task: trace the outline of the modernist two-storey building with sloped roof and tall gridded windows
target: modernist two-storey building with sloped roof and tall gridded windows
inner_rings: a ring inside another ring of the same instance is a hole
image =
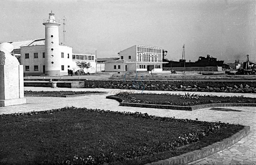
[[[134,45],[118,53],[119,60],[105,62],[106,72],[163,71],[163,49],[159,47]]]

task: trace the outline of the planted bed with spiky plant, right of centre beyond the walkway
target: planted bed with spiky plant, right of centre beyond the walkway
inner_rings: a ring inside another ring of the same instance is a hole
[[[214,96],[214,95],[193,95],[185,93],[186,95],[175,94],[154,94],[142,93],[129,94],[119,93],[118,96],[124,100],[125,103],[142,103],[142,104],[158,104],[158,105],[178,105],[178,106],[193,106],[201,104],[212,103],[256,103],[256,98],[243,96]]]

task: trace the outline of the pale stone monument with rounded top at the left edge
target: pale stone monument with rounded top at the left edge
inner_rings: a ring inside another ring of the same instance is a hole
[[[13,45],[0,44],[0,106],[25,104],[23,65],[10,52]]]

